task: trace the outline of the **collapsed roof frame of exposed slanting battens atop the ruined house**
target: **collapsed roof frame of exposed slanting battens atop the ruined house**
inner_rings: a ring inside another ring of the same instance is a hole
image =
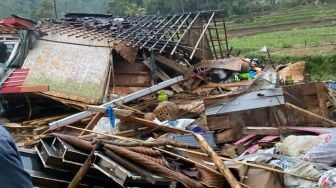
[[[92,41],[108,39],[109,44],[121,40],[132,47],[170,55],[178,51],[188,54],[189,59],[207,50],[212,57],[223,58],[228,48],[221,11],[135,17],[67,14],[61,19],[45,20],[39,30]],[[204,39],[209,44],[204,46]]]

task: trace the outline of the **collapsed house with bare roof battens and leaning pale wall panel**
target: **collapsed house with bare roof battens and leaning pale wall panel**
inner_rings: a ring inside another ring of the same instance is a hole
[[[42,37],[23,65],[31,69],[24,85],[48,85],[48,95],[101,104],[109,94],[130,94],[187,74],[199,59],[224,57],[226,42],[218,34],[224,29],[209,26],[219,24],[217,17],[220,12],[168,17],[67,14],[43,20],[37,26]],[[178,86],[174,90],[182,91]]]

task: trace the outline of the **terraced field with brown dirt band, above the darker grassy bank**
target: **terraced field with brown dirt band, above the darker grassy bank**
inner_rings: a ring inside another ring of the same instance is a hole
[[[276,55],[336,54],[336,3],[231,18],[226,25],[229,46],[243,53],[267,46]]]

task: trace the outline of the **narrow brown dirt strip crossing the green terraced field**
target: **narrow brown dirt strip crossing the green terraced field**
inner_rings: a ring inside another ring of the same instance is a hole
[[[262,26],[256,28],[245,28],[245,29],[233,29],[227,28],[228,37],[243,37],[255,35],[258,33],[266,33],[266,32],[274,32],[274,31],[283,31],[290,30],[293,28],[305,28],[305,27],[318,27],[318,26],[328,26],[335,25],[336,19],[326,19],[326,20],[318,20],[318,21],[305,21],[305,22],[297,22],[297,23],[287,23],[287,24],[277,24],[271,26]]]

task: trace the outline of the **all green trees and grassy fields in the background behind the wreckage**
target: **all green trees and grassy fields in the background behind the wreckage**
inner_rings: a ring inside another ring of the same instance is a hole
[[[54,0],[0,0],[0,18],[11,14],[31,19],[54,17]],[[114,15],[173,14],[198,10],[224,9],[228,30],[250,29],[272,24],[286,24],[306,20],[334,19],[336,0],[55,0],[61,17],[67,12],[112,13]],[[229,44],[242,54],[267,57],[257,52],[266,45],[271,49],[273,62],[287,63],[304,60],[313,79],[336,80],[336,26],[293,29],[230,39]],[[302,46],[331,45],[331,51],[290,54]],[[277,50],[280,49],[280,52]],[[286,51],[281,52],[285,49]]]

